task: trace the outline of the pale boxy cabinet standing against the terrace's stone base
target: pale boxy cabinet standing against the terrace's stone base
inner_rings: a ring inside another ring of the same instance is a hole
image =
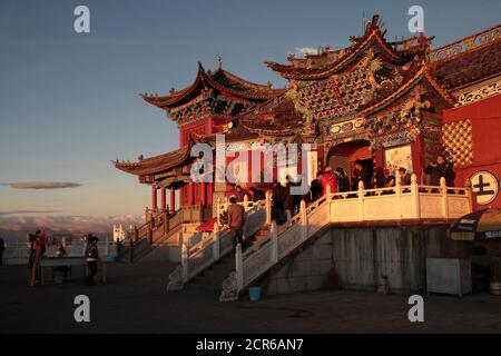
[[[426,258],[428,293],[471,294],[470,258]]]

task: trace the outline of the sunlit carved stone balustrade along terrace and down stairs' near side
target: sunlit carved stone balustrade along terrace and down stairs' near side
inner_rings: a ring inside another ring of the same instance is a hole
[[[223,281],[219,300],[237,300],[249,286],[259,281],[273,268],[291,259],[299,248],[306,248],[323,229],[346,222],[374,224],[379,221],[448,221],[471,212],[471,189],[418,184],[412,175],[411,185],[402,185],[397,176],[394,187],[326,194],[306,206],[301,202],[297,215],[283,226],[272,222],[268,234],[257,233],[261,241],[235,253],[235,270]],[[269,221],[269,219],[268,219]]]

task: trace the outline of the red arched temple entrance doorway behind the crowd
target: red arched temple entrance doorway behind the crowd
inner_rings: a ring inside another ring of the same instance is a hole
[[[327,165],[333,169],[338,167],[343,168],[350,177],[350,187],[353,188],[351,177],[357,159],[367,168],[370,178],[372,179],[374,167],[371,144],[367,140],[354,140],[331,147],[327,155]]]

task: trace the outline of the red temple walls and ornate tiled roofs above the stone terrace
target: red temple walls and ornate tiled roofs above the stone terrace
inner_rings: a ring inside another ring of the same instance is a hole
[[[179,148],[115,161],[116,168],[151,187],[151,211],[166,211],[169,189],[170,211],[198,206],[205,220],[214,216],[216,199],[234,190],[229,182],[190,179],[193,145],[207,142],[215,150],[216,134],[225,135],[226,150],[249,158],[265,142],[311,144],[307,167],[295,167],[308,182],[326,166],[351,171],[360,159],[370,171],[404,167],[425,184],[425,167],[445,152],[455,185],[471,180],[474,208],[501,207],[501,24],[433,49],[433,38],[423,33],[386,40],[380,22],[374,16],[347,48],[266,62],[287,80],[285,89],[242,79],[223,69],[220,59],[214,71],[199,63],[189,87],[143,96],[177,123]],[[264,187],[249,182],[249,165],[234,166],[237,181]],[[273,165],[276,179],[291,172]]]

